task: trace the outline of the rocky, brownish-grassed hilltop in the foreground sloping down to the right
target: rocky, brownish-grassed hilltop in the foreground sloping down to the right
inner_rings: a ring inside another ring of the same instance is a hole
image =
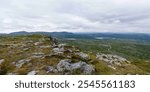
[[[0,74],[147,74],[118,55],[87,53],[43,35],[1,37]]]

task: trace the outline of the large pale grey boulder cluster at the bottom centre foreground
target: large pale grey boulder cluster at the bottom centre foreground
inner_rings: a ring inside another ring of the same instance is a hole
[[[47,72],[58,74],[94,74],[95,68],[85,62],[72,63],[70,59],[61,60],[56,67],[48,66]]]

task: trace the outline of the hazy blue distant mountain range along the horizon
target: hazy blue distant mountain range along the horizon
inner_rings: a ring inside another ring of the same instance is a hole
[[[127,39],[127,40],[140,40],[150,41],[150,34],[144,33],[71,33],[71,32],[13,32],[7,35],[19,36],[30,34],[43,34],[56,38],[75,38],[75,39],[95,39],[101,37],[104,39]],[[6,35],[6,34],[0,34]]]

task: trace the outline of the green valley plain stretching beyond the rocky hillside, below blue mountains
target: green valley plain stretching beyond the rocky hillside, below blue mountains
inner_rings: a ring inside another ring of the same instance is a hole
[[[150,42],[125,39],[76,39],[60,40],[85,52],[117,54],[132,61],[141,69],[150,72]]]

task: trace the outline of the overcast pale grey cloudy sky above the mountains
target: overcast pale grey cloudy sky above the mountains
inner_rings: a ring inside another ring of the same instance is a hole
[[[150,33],[150,0],[0,0],[0,33]]]

